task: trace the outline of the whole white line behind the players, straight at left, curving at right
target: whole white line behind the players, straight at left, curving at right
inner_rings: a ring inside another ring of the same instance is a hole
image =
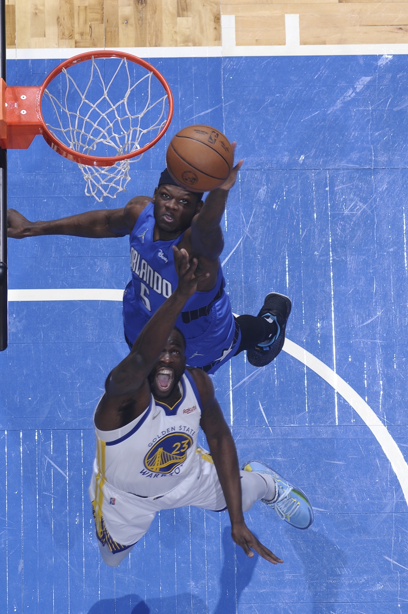
[[[9,290],[9,301],[122,301],[123,290],[73,288],[73,289],[48,289],[48,290]],[[304,348],[286,338],[283,350],[306,365],[317,375],[320,375],[330,386],[334,388],[358,413],[363,422],[369,427],[375,439],[379,442],[388,461],[391,463],[402,492],[408,504],[408,465],[398,445],[382,423],[380,418],[363,398],[337,373],[321,362],[316,356],[310,354]]]

